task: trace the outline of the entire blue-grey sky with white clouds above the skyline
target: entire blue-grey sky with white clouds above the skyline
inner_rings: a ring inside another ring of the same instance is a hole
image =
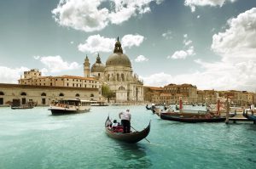
[[[145,86],[256,92],[256,0],[0,0],[0,83],[83,76],[117,37]]]

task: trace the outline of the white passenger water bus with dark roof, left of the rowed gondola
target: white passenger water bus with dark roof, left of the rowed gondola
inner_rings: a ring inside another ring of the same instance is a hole
[[[81,99],[61,99],[49,106],[52,115],[67,115],[90,111],[90,101]]]

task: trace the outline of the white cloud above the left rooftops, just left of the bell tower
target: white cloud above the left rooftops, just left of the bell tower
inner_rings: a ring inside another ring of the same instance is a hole
[[[77,62],[67,63],[61,56],[41,56],[40,61],[46,66],[51,73],[60,72],[62,70],[79,69],[80,65]],[[44,72],[48,72],[44,69]]]

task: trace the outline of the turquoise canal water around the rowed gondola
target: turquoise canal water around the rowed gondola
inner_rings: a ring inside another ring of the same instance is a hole
[[[131,110],[131,126],[151,120],[148,140],[125,144],[104,132],[107,116]],[[92,107],[77,115],[47,107],[0,109],[0,168],[255,168],[256,125],[163,121],[145,106]]]

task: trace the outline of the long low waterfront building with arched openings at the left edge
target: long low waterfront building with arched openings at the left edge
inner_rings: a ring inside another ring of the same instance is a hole
[[[56,87],[0,83],[0,106],[9,106],[13,99],[21,104],[33,101],[38,105],[49,105],[52,100],[86,99],[98,100],[101,97],[97,88]]]

